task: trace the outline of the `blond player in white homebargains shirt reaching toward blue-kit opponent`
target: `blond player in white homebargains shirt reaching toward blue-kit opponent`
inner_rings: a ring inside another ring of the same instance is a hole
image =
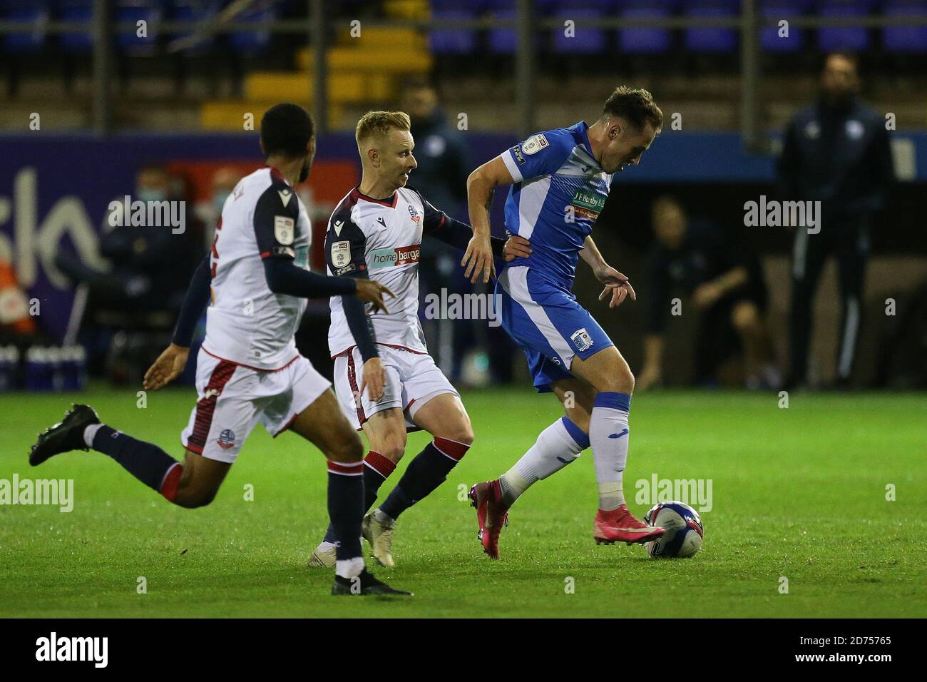
[[[394,566],[392,533],[405,509],[435,490],[473,444],[474,434],[460,395],[425,347],[418,319],[418,263],[422,236],[441,239],[465,251],[473,231],[406,187],[416,167],[409,116],[401,111],[370,111],[357,124],[361,184],[341,199],[328,223],[325,254],[328,274],[371,278],[394,292],[390,310],[371,310],[363,302],[333,297],[329,350],[335,360],[338,400],[352,425],[370,442],[364,457],[365,508],[396,469],[405,452],[407,430],[435,436],[410,463],[383,504],[363,519],[363,535],[384,566]],[[527,257],[529,242],[493,239],[496,256]],[[372,333],[365,333],[369,328]],[[360,387],[368,372],[383,371],[387,381],[379,399]],[[310,566],[332,566],[334,528],[312,552]]]

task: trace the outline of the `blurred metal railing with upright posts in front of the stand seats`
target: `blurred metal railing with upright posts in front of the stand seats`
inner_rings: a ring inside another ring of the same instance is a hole
[[[50,34],[91,32],[93,35],[93,129],[98,135],[106,135],[111,129],[112,109],[109,98],[111,77],[112,38],[118,32],[134,32],[133,22],[110,20],[109,0],[94,0],[94,19],[91,22],[46,21],[42,30]],[[252,5],[239,2],[235,8],[240,13]],[[569,11],[568,9],[565,11]],[[365,27],[412,28],[421,31],[457,29],[489,30],[509,28],[515,30],[514,51],[515,108],[517,110],[518,132],[527,135],[535,130],[535,92],[537,54],[532,45],[532,36],[540,30],[564,28],[565,16],[540,17],[534,12],[534,0],[515,0],[514,17],[479,17],[474,19],[364,19]],[[741,40],[741,133],[746,148],[761,150],[764,141],[759,125],[759,102],[757,100],[760,72],[759,30],[766,26],[778,26],[781,19],[787,19],[790,27],[801,29],[820,28],[886,28],[893,26],[927,26],[927,15],[868,15],[862,17],[824,17],[806,15],[785,15],[781,18],[762,17],[756,0],[742,0],[741,13],[736,17],[582,17],[576,19],[577,29],[634,29],[660,28],[668,30],[698,28],[728,28],[740,32]],[[271,33],[304,33],[313,50],[311,69],[312,113],[320,131],[327,122],[327,64],[326,38],[328,29],[333,28],[324,0],[307,0],[306,19],[275,19],[273,21],[240,21],[234,18],[209,19],[205,21],[162,20],[157,24],[160,33],[193,32],[195,36],[210,36],[229,32],[260,31]],[[14,32],[28,32],[36,28],[34,22],[0,20],[0,35]],[[170,46],[169,46],[170,47]]]

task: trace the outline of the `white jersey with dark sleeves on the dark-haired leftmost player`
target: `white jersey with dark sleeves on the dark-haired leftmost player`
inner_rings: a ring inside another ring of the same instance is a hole
[[[311,225],[283,175],[262,168],[242,178],[222,206],[212,242],[212,284],[204,350],[256,369],[279,369],[298,356],[294,335],[306,299],[273,293],[264,258],[309,267]]]

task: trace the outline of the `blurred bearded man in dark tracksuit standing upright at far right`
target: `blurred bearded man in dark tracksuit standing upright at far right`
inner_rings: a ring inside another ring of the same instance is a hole
[[[819,232],[795,230],[787,388],[806,382],[811,310],[827,258],[837,259],[842,320],[837,349],[838,388],[846,387],[857,350],[869,226],[894,180],[883,117],[858,97],[857,58],[824,60],[819,101],[796,113],[785,131],[779,176],[785,199],[819,201]]]

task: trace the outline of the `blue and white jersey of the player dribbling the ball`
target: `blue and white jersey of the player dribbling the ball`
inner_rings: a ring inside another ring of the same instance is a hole
[[[502,154],[514,185],[505,201],[505,228],[531,241],[526,265],[567,291],[579,251],[608,198],[612,176],[592,156],[589,126],[578,122],[531,135]]]

